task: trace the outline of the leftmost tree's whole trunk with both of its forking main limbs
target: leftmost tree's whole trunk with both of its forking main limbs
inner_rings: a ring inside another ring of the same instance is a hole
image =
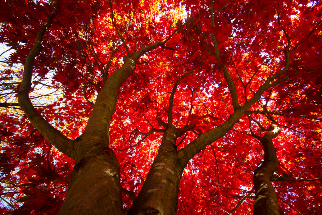
[[[19,105],[46,140],[75,159],[67,196],[59,214],[123,214],[119,164],[109,148],[109,123],[118,91],[133,73],[137,60],[164,43],[156,42],[131,54],[123,66],[110,75],[98,94],[85,132],[72,141],[52,127],[35,110],[29,98],[33,61],[42,49],[43,36],[53,17],[54,13],[39,31],[36,44],[25,61],[23,80],[17,94]]]

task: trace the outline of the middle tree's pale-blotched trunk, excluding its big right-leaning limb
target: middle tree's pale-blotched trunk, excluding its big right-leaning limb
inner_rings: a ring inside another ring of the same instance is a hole
[[[179,184],[184,170],[178,159],[176,138],[176,129],[168,128],[147,179],[128,215],[176,214]]]

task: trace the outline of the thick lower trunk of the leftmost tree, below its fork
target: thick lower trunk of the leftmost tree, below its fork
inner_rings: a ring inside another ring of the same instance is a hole
[[[96,144],[75,161],[58,214],[123,214],[119,164],[109,147]]]

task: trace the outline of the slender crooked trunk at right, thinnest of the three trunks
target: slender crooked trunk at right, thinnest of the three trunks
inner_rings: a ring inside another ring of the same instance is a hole
[[[267,132],[263,138],[257,137],[264,150],[264,161],[262,165],[254,171],[253,182],[256,194],[254,215],[279,214],[277,195],[270,181],[279,164],[272,140],[279,134],[280,128],[276,125],[273,125],[273,127],[274,130]]]

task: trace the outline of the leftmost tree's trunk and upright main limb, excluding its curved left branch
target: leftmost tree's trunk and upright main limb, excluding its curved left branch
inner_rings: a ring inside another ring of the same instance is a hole
[[[123,214],[119,163],[109,148],[109,123],[118,91],[137,59],[160,42],[137,51],[116,70],[98,94],[84,133],[74,141],[75,167],[58,214]]]

